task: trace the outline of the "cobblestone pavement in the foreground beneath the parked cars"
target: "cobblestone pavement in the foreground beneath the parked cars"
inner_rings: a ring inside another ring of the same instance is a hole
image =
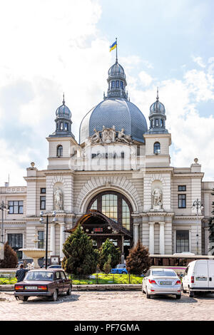
[[[214,320],[214,294],[189,298],[146,299],[141,292],[73,292],[57,301],[36,297],[16,301],[13,294],[0,293],[0,320]]]

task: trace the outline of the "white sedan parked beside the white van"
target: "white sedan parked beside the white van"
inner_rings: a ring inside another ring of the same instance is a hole
[[[149,269],[143,278],[142,292],[147,298],[154,294],[174,294],[176,299],[180,299],[180,278],[173,269]]]

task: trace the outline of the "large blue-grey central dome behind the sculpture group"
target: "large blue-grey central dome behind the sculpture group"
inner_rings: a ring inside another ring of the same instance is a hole
[[[125,98],[107,98],[92,108],[83,118],[80,126],[80,143],[94,134],[93,129],[101,131],[103,125],[116,131],[124,128],[126,135],[133,140],[144,142],[143,134],[147,131],[146,118],[136,105]]]

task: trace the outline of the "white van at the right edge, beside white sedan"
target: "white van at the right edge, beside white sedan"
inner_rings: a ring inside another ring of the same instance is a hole
[[[183,274],[182,290],[189,297],[194,297],[195,292],[214,293],[214,259],[190,262]]]

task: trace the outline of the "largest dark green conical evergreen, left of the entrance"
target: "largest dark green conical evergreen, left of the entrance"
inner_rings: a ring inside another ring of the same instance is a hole
[[[78,225],[63,244],[62,267],[68,274],[86,275],[96,272],[98,250],[93,249],[93,242]]]

